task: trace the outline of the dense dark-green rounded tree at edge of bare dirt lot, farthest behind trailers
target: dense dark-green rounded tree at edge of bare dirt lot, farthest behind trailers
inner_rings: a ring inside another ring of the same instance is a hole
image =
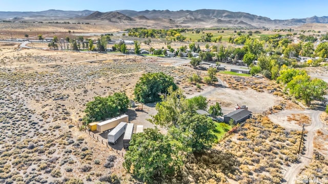
[[[177,89],[173,78],[162,72],[143,74],[134,88],[135,99],[141,103],[159,101],[160,95],[167,94],[170,86]]]

